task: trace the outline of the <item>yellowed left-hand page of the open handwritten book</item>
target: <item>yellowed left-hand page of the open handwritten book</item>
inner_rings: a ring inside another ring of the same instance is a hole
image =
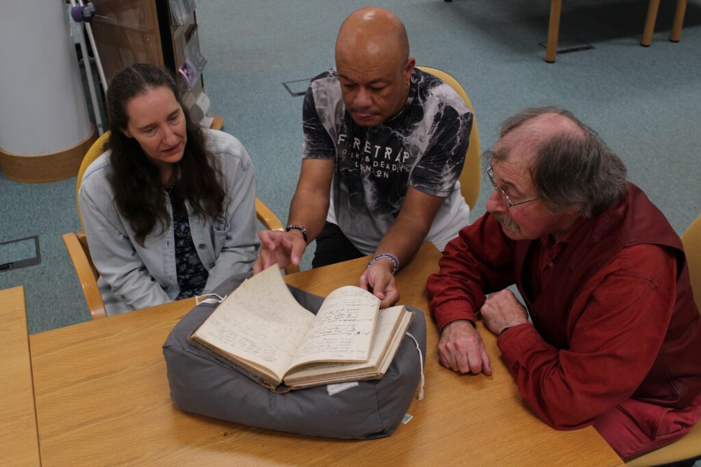
[[[273,265],[233,291],[194,335],[282,379],[313,320]]]

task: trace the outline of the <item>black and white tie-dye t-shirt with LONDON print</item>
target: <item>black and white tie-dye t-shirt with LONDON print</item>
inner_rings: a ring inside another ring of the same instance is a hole
[[[439,78],[414,69],[404,109],[382,125],[362,127],[346,111],[331,69],[311,81],[303,115],[302,156],[336,162],[327,221],[357,249],[374,253],[408,186],[446,198],[426,236],[441,251],[468,225],[470,209],[457,181],[472,113]]]

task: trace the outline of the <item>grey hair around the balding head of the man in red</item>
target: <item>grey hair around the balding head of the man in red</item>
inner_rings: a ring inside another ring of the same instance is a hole
[[[611,207],[627,190],[623,162],[590,127],[571,112],[554,106],[533,107],[508,118],[499,132],[501,138],[526,121],[545,113],[569,118],[581,130],[561,132],[536,147],[531,164],[531,179],[550,211],[575,207],[585,217]],[[503,160],[506,154],[487,151],[485,158]],[[486,164],[485,164],[486,165]]]

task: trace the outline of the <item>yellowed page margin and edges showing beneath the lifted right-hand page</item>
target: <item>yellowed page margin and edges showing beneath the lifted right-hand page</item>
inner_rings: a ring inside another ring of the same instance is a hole
[[[314,363],[312,365],[305,365],[285,375],[285,382],[287,383],[290,379],[301,379],[339,371],[346,372],[359,370],[361,368],[372,368],[378,365],[386,354],[390,340],[392,340],[392,336],[397,328],[397,324],[400,322],[400,318],[404,316],[404,313],[403,306],[384,308],[378,312],[375,335],[372,339],[372,350],[370,351],[367,362]]]

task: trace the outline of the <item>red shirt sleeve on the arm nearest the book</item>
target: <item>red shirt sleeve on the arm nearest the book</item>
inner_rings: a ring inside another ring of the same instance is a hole
[[[440,272],[432,274],[426,283],[431,316],[439,330],[458,319],[474,323],[485,293],[514,284],[514,246],[489,213],[463,228],[447,244]]]

